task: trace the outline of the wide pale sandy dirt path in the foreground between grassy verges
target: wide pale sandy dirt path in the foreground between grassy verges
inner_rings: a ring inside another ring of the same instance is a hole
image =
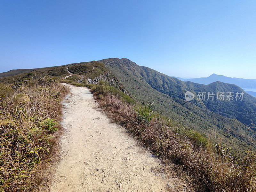
[[[63,158],[56,167],[51,192],[158,192],[172,188],[163,173],[151,171],[160,161],[123,127],[111,123],[88,89],[65,85],[71,88],[64,103],[67,133],[61,138]]]

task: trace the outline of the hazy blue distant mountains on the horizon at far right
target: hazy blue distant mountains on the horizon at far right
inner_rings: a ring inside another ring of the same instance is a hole
[[[175,76],[172,76],[175,77]],[[250,95],[256,97],[256,79],[242,79],[242,78],[236,78],[236,77],[227,77],[223,75],[217,75],[213,73],[209,77],[200,77],[200,78],[180,78],[180,77],[175,77],[180,79],[181,81],[191,81],[194,83],[199,83],[199,84],[210,84],[215,81],[221,81],[224,83],[229,83],[229,84],[235,84],[238,87],[241,87],[244,89],[247,93]]]

